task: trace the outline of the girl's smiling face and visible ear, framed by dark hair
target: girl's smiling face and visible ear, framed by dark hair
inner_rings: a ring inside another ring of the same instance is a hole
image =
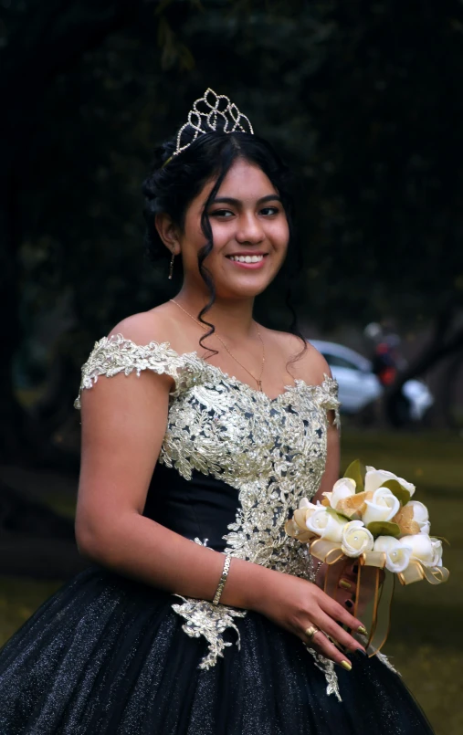
[[[178,235],[185,285],[207,294],[197,257],[205,245],[201,215],[214,182],[206,184]],[[257,165],[237,159],[207,210],[214,247],[205,258],[221,299],[253,298],[268,287],[285,259],[289,226],[279,194]]]

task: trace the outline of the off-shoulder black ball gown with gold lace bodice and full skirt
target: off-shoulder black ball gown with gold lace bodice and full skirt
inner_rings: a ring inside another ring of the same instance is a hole
[[[168,342],[95,344],[102,376],[174,378],[143,515],[233,557],[312,580],[285,521],[320,487],[337,384],[274,399]],[[122,385],[123,389],[123,385]],[[79,398],[76,401],[79,408]],[[344,671],[253,611],[166,593],[92,563],[0,650],[0,735],[430,735],[384,656]]]

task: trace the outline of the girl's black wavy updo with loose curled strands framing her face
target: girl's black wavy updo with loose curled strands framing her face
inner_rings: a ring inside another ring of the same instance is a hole
[[[187,132],[184,131],[183,142]],[[178,155],[173,155],[175,147],[176,136],[164,142],[155,151],[151,172],[143,182],[142,192],[144,194],[144,217],[146,221],[145,248],[148,257],[153,262],[159,262],[161,259],[165,260],[169,257],[169,251],[163,245],[163,241],[157,232],[155,216],[160,213],[170,215],[174,225],[182,230],[188,206],[202,191],[205,184],[214,181],[214,186],[208,196],[201,217],[205,245],[198,252],[198,269],[209,290],[209,300],[197,316],[199,321],[209,327],[209,330],[199,341],[201,346],[205,347],[203,340],[215,331],[214,324],[204,319],[205,313],[211,308],[216,299],[214,279],[205,266],[205,258],[214,247],[213,233],[207,212],[226,177],[226,173],[237,159],[244,159],[249,163],[256,164],[268,176],[269,181],[281,198],[289,225],[289,247],[288,256],[280,270],[280,274],[285,280],[285,302],[291,313],[289,331],[303,340],[298,329],[296,313],[291,303],[291,281],[300,272],[301,256],[293,223],[292,176],[289,168],[281,161],[278,153],[273,150],[267,141],[246,132],[226,133],[216,131],[199,135],[185,151]],[[305,349],[307,345],[306,341],[303,341]],[[299,355],[294,359],[297,359],[297,357]]]

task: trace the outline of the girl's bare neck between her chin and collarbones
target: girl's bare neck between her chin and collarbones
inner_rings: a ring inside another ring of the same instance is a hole
[[[181,289],[174,300],[195,319],[207,303],[203,294],[187,289]],[[254,299],[216,299],[203,319],[214,324],[222,336],[239,339],[249,336],[256,329],[253,327],[253,307]]]

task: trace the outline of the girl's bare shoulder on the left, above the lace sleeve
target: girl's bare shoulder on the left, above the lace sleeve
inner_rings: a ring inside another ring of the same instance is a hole
[[[172,310],[168,304],[161,304],[154,309],[141,311],[121,320],[108,336],[121,334],[126,340],[144,345],[152,341],[170,342],[173,339],[173,331],[175,325]]]

